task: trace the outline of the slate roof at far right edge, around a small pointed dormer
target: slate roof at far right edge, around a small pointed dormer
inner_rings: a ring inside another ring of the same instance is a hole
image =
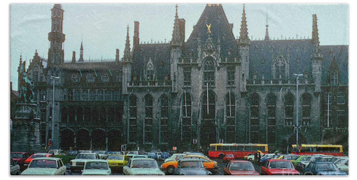
[[[338,68],[340,69],[341,83],[348,83],[348,45],[321,45],[322,60],[322,77],[321,82],[325,83],[328,69],[331,66],[332,58],[335,56]]]

